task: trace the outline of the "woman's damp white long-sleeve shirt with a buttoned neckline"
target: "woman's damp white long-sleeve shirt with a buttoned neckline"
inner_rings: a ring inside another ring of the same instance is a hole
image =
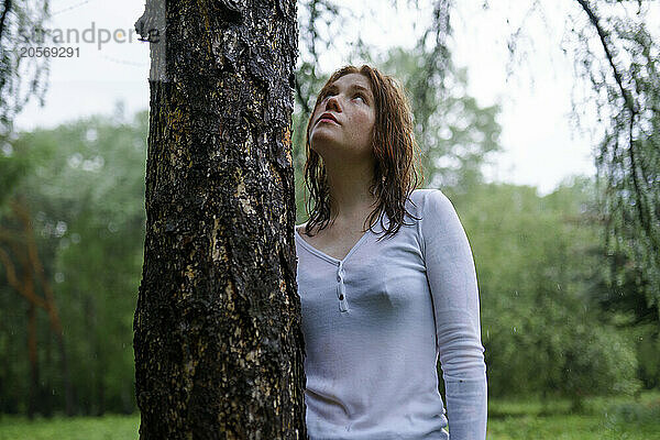
[[[486,367],[468,238],[438,189],[414,190],[406,209],[422,219],[406,216],[413,226],[378,242],[376,220],[343,260],[296,227],[311,440],[447,440],[448,419],[451,440],[485,439]]]

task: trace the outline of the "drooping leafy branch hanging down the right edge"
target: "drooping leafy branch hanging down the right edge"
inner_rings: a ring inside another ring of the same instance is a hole
[[[597,157],[598,174],[605,172],[607,176],[607,243],[612,235],[617,252],[629,254],[641,274],[640,290],[650,305],[660,304],[660,48],[646,29],[645,2],[637,2],[638,20],[608,16],[587,0],[576,2],[606,58],[600,78],[593,72],[587,75],[597,94],[606,92],[607,101],[598,106],[610,113]],[[581,37],[584,42],[588,38]],[[594,57],[586,50],[582,62],[587,70],[593,65],[587,58]],[[613,267],[613,276],[617,271],[620,267]]]

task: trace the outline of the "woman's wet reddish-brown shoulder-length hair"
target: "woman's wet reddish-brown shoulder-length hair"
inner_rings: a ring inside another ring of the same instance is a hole
[[[327,228],[331,213],[330,187],[326,166],[322,157],[311,148],[309,140],[314,113],[328,88],[337,79],[349,74],[361,74],[366,77],[375,101],[375,123],[372,139],[375,166],[370,191],[376,197],[377,202],[376,208],[365,220],[365,224],[369,224],[371,230],[371,224],[384,211],[389,219],[389,226],[385,230],[381,218],[381,226],[385,230],[384,237],[394,235],[402,224],[405,224],[405,215],[417,219],[406,211],[405,202],[409,194],[424,182],[421,157],[413,131],[410,101],[404,87],[395,78],[366,65],[362,67],[344,66],[336,70],[317,96],[307,122],[305,138],[307,162],[304,174],[305,186],[309,189],[310,198],[306,198],[305,202],[309,216],[305,233],[312,237],[314,234],[310,232],[315,226],[319,226],[319,231]]]

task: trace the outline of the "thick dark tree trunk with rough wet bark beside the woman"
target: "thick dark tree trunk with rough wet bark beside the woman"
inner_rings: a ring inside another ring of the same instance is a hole
[[[135,25],[152,48],[141,439],[307,437],[295,20],[293,0],[148,0]]]

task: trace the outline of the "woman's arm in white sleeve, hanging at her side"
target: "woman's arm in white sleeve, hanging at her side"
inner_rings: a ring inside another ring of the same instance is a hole
[[[420,229],[450,438],[483,440],[487,418],[486,365],[472,250],[453,205],[438,189],[426,194]]]

